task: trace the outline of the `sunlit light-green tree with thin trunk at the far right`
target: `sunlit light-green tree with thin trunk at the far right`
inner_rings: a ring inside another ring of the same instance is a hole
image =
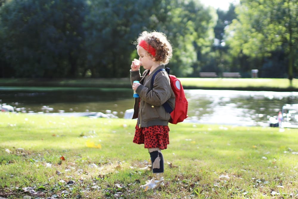
[[[242,0],[236,13],[237,19],[226,31],[234,55],[243,53],[264,62],[273,52],[284,51],[292,84],[298,47],[297,0]]]

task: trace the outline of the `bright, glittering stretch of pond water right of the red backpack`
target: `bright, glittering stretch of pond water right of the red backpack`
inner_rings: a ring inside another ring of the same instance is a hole
[[[187,90],[190,122],[267,125],[284,104],[298,102],[298,92]]]

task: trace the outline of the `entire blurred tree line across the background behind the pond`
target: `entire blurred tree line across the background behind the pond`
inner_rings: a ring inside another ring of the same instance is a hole
[[[128,77],[142,31],[164,32],[179,77],[240,72],[295,78],[297,0],[1,0],[0,77]]]

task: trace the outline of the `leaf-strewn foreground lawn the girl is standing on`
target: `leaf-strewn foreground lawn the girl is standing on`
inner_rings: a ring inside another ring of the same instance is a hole
[[[132,143],[135,122],[1,112],[0,197],[23,198],[26,187],[44,198],[298,196],[298,129],[170,125],[166,186],[143,192],[150,157]]]

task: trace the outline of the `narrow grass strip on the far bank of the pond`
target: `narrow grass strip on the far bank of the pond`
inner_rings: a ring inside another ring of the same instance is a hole
[[[298,79],[293,79],[292,85],[286,78],[179,78],[185,89],[237,89],[237,90],[273,90],[297,91]],[[130,88],[129,78],[81,78],[81,79],[21,79],[0,78],[1,90],[31,90],[49,89],[46,87],[95,87],[95,88]],[[39,88],[38,88],[39,87]],[[54,88],[51,88],[54,89]],[[71,88],[69,88],[71,89]]]

